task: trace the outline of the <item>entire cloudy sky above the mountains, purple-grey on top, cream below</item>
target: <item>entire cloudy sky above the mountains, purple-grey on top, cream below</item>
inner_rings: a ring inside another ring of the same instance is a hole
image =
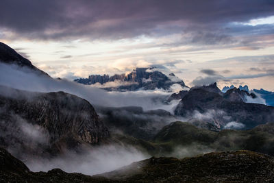
[[[158,66],[274,90],[274,1],[1,0],[0,41],[53,77]]]

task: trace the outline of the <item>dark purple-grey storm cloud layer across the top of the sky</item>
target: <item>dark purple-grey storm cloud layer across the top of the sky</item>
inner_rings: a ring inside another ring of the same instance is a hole
[[[214,44],[231,39],[227,34],[212,31],[229,22],[271,16],[273,9],[273,1],[261,0],[2,0],[0,29],[39,39],[73,36],[119,39],[199,29],[206,32],[193,36],[192,42],[206,40],[207,44]]]

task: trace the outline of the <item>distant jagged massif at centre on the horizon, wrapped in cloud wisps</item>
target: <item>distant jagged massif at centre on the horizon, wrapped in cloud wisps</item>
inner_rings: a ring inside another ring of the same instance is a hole
[[[136,68],[131,73],[125,75],[90,75],[88,78],[79,78],[75,82],[81,84],[101,84],[105,90],[134,91],[154,90],[163,88],[168,90],[173,84],[179,84],[187,87],[182,80],[179,80],[173,73],[164,75],[160,71],[154,71],[155,68]],[[111,86],[113,82],[120,82],[116,86]]]

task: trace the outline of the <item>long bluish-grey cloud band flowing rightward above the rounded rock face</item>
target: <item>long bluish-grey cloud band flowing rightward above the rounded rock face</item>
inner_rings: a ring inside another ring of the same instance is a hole
[[[68,80],[53,80],[38,76],[27,68],[0,64],[0,85],[29,91],[64,91],[88,100],[92,105],[121,107],[141,106],[144,110],[164,109],[173,112],[177,103],[163,104],[173,91],[138,90],[135,92],[107,92],[97,87],[85,86]],[[178,101],[177,101],[178,102]]]

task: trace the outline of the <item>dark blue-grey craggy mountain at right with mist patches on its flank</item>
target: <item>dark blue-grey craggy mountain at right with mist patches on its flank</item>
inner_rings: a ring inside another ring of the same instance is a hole
[[[207,119],[220,129],[226,125],[237,125],[242,129],[250,129],[259,124],[273,122],[273,107],[258,103],[245,103],[235,100],[234,97],[227,97],[229,93],[233,93],[234,89],[231,90],[232,92],[228,90],[227,94],[221,96],[203,88],[190,89],[179,102],[175,114],[181,117],[199,114],[199,118]]]

